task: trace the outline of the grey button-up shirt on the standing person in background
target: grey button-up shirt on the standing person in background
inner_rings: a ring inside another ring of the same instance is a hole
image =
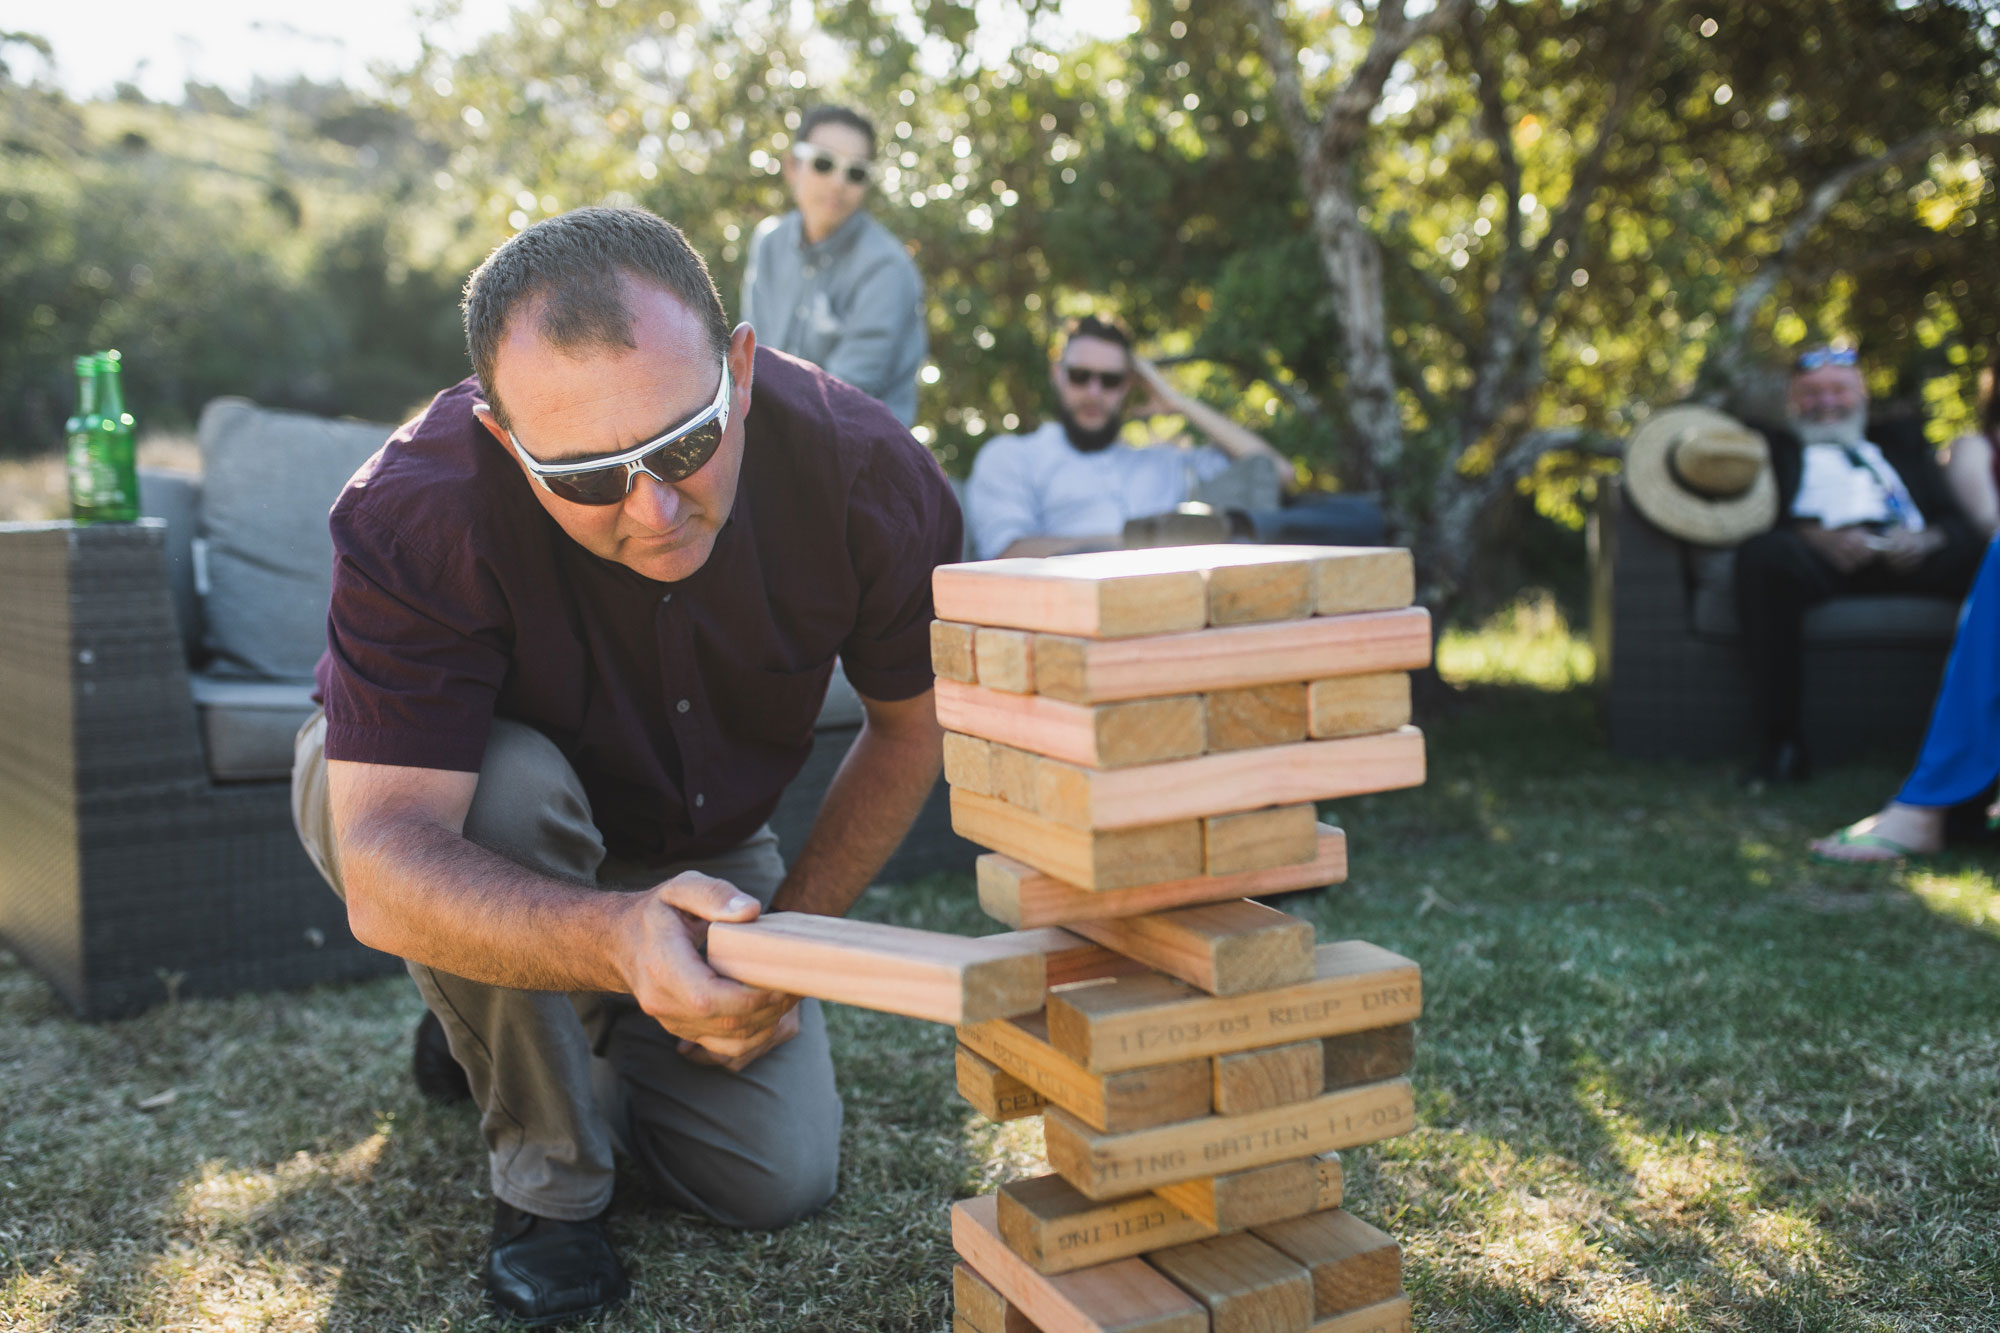
[[[916,420],[916,370],[930,350],[924,280],[902,242],[866,212],[816,246],[796,210],[760,222],[742,318],[764,346],[880,398],[906,426]]]

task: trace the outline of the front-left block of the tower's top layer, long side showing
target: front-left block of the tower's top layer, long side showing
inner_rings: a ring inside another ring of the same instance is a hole
[[[1190,560],[1156,550],[940,564],[930,574],[936,614],[1004,628],[1084,638],[1196,630],[1208,620],[1208,584]]]

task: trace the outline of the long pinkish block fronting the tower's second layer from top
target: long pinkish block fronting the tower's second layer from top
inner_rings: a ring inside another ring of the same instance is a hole
[[[1416,671],[1426,664],[1430,612],[1422,606],[1154,638],[1038,634],[1034,640],[1036,691],[1080,705]]]

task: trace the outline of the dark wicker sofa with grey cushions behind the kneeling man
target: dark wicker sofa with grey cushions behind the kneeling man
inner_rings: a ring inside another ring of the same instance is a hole
[[[0,524],[0,943],[88,1019],[398,971],[354,941],[290,813],[324,642],[326,508],[386,426],[202,414],[202,478],[136,524]],[[772,825],[794,857],[860,701],[834,673]],[[964,869],[932,793],[884,879]]]

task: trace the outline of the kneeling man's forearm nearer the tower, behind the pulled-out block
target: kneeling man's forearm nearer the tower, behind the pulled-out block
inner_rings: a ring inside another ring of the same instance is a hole
[[[934,721],[896,731],[862,723],[772,911],[840,917],[854,905],[938,783],[940,737]]]

